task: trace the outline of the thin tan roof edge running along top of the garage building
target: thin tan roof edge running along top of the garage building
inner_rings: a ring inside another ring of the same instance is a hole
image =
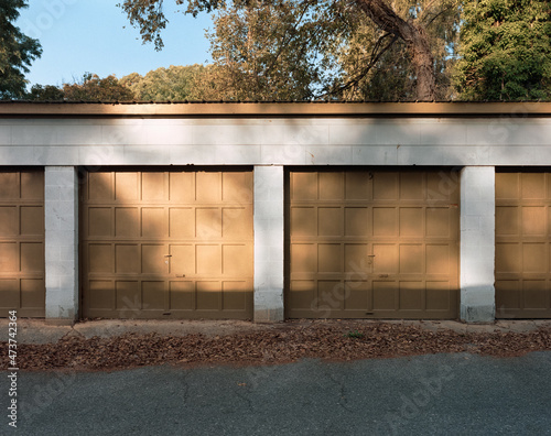
[[[551,102],[31,102],[0,101],[0,116],[46,117],[533,117]]]

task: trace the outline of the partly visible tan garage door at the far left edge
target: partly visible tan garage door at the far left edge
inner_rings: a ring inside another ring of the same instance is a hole
[[[0,171],[0,317],[44,317],[44,171]]]

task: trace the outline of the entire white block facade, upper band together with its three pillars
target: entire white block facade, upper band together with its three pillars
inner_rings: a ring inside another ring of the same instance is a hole
[[[284,165],[446,165],[461,173],[461,318],[491,321],[495,175],[551,165],[551,119],[2,118],[0,162],[46,171],[46,317],[78,313],[75,167],[255,165],[255,319],[283,319]]]

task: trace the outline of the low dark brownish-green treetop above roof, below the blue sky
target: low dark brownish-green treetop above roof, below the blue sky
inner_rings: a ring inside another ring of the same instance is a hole
[[[64,84],[63,94],[68,101],[131,101],[133,92],[121,85],[114,75],[100,78],[97,74],[86,73],[82,80]]]

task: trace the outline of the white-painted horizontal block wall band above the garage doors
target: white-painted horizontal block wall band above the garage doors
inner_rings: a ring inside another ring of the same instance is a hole
[[[3,165],[542,165],[551,119],[0,119]]]

